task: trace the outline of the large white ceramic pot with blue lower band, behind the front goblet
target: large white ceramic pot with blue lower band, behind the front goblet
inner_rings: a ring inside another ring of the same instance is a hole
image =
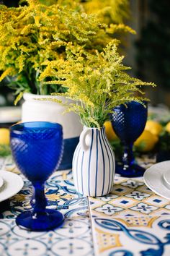
[[[65,111],[64,106],[53,101],[39,101],[40,98],[57,98],[58,100],[66,101],[61,96],[24,93],[22,121],[52,121],[61,124],[63,127],[64,152],[59,169],[71,168],[73,152],[83,129],[79,116],[73,112],[63,114]]]

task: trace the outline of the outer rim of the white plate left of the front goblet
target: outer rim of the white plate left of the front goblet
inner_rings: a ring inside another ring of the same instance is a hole
[[[2,174],[2,175],[1,175],[1,174]],[[11,193],[7,194],[6,197],[4,197],[3,199],[1,199],[1,193],[4,192],[6,189],[8,189],[7,187],[4,188],[4,189],[0,192],[0,202],[3,202],[3,201],[5,201],[5,200],[7,200],[7,199],[13,197],[13,196],[16,195],[16,194],[22,189],[22,187],[24,186],[24,181],[23,181],[22,177],[19,176],[18,174],[14,174],[14,173],[11,172],[11,171],[0,170],[0,176],[2,177],[2,179],[3,179],[3,174],[4,174],[4,176],[5,176],[4,182],[5,182],[5,179],[6,179],[8,182],[12,182],[12,183],[13,183],[12,180],[8,179],[8,176],[15,176],[15,178],[18,179],[19,186],[18,186],[17,188],[14,186],[14,188],[16,188],[16,189],[12,190]]]

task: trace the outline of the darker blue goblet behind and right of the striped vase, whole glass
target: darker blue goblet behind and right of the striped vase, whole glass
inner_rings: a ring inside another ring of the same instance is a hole
[[[124,147],[122,163],[117,163],[116,173],[126,177],[143,176],[145,169],[135,163],[133,143],[143,132],[148,116],[147,104],[130,101],[113,109],[112,127]]]

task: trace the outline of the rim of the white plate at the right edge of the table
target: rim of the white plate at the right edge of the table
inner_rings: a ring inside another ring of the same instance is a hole
[[[156,167],[161,166],[162,163],[169,163],[169,164],[170,164],[170,161],[168,160],[168,161],[161,161],[161,162],[159,162],[159,163],[154,163],[151,167],[149,167],[149,168],[146,169],[145,173],[143,174],[143,180],[144,180],[146,186],[147,186],[149,189],[151,189],[151,191],[153,191],[154,193],[156,193],[156,195],[159,195],[159,196],[161,196],[161,197],[166,198],[167,200],[170,200],[170,196],[168,197],[168,196],[166,196],[166,195],[164,195],[164,194],[161,194],[161,192],[158,192],[156,189],[154,189],[152,186],[150,186],[150,184],[147,182],[147,178],[146,178],[147,174],[150,173],[151,171],[153,171],[153,168],[156,168]],[[163,174],[164,174],[166,171],[167,171],[167,169],[164,169]],[[161,184],[163,187],[166,187],[166,186],[164,185],[164,183],[161,182],[161,180],[163,180],[163,179],[162,179],[162,178],[163,178],[163,174],[160,172],[160,184]],[[166,187],[166,189],[168,189],[168,188]],[[170,189],[169,189],[169,192],[170,192]]]

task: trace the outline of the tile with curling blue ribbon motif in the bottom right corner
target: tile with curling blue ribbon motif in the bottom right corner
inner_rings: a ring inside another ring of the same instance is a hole
[[[169,256],[169,216],[92,218],[95,255]]]

